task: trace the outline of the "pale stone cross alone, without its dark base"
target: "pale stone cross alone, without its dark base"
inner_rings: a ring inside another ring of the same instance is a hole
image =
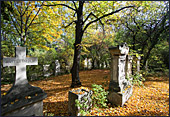
[[[27,84],[26,65],[38,65],[38,59],[36,57],[26,57],[26,47],[16,47],[15,56],[3,58],[3,67],[16,66],[14,85]]]

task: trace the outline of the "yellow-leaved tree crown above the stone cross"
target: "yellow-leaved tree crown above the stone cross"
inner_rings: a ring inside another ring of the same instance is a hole
[[[57,16],[58,11],[43,8],[43,3],[42,1],[3,2],[2,28],[6,34],[14,36],[12,42],[15,42],[15,45],[49,49],[46,43],[52,43],[60,37],[62,31],[58,29],[58,24],[61,23],[60,17]]]

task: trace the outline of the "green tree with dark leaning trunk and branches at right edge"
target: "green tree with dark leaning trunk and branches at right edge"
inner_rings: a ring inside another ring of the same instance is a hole
[[[167,1],[146,2],[146,5],[138,7],[137,12],[130,12],[120,22],[121,39],[132,44],[133,51],[144,55],[142,69],[152,49],[162,41],[162,35],[168,35],[169,4],[167,3]]]

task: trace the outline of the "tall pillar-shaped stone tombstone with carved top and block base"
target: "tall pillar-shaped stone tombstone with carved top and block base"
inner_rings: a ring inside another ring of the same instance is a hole
[[[123,106],[132,95],[132,85],[126,77],[126,57],[129,47],[126,43],[109,48],[111,53],[111,80],[109,84],[108,101],[117,106]]]

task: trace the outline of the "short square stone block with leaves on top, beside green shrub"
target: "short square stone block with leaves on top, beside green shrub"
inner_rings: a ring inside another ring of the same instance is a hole
[[[84,111],[89,111],[92,107],[92,91],[87,91],[85,89],[78,89],[75,91],[69,91],[68,95],[68,113],[70,116],[81,116],[80,107],[75,106],[75,100],[78,99],[81,104],[86,104]]]

